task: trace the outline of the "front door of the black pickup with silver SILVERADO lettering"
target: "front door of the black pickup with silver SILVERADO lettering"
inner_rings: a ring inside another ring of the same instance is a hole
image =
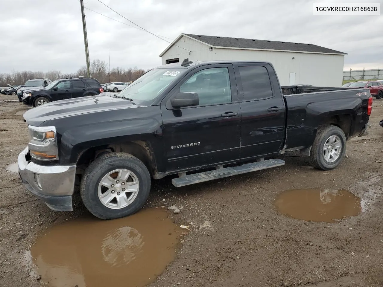
[[[198,106],[172,108],[179,92],[198,93]],[[236,161],[240,152],[241,109],[231,64],[191,70],[161,103],[167,171]]]

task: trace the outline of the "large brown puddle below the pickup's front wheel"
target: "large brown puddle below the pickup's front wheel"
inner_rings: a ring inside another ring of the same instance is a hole
[[[34,268],[50,287],[145,286],[174,259],[178,229],[163,209],[115,220],[89,215],[41,235]]]

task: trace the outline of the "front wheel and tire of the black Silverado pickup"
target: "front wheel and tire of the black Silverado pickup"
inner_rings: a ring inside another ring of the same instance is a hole
[[[142,161],[128,153],[107,153],[85,170],[80,193],[85,207],[100,219],[136,213],[149,196],[151,178]]]

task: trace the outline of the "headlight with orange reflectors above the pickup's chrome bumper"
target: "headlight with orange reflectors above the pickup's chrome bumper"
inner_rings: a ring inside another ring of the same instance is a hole
[[[28,126],[29,130],[29,152],[31,157],[38,160],[57,160],[56,127],[34,127]]]

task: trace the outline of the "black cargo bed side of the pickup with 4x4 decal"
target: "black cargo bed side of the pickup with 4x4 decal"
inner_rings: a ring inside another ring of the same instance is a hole
[[[358,136],[368,122],[368,89],[283,86],[286,151],[308,148],[321,123],[339,126],[346,138]]]

